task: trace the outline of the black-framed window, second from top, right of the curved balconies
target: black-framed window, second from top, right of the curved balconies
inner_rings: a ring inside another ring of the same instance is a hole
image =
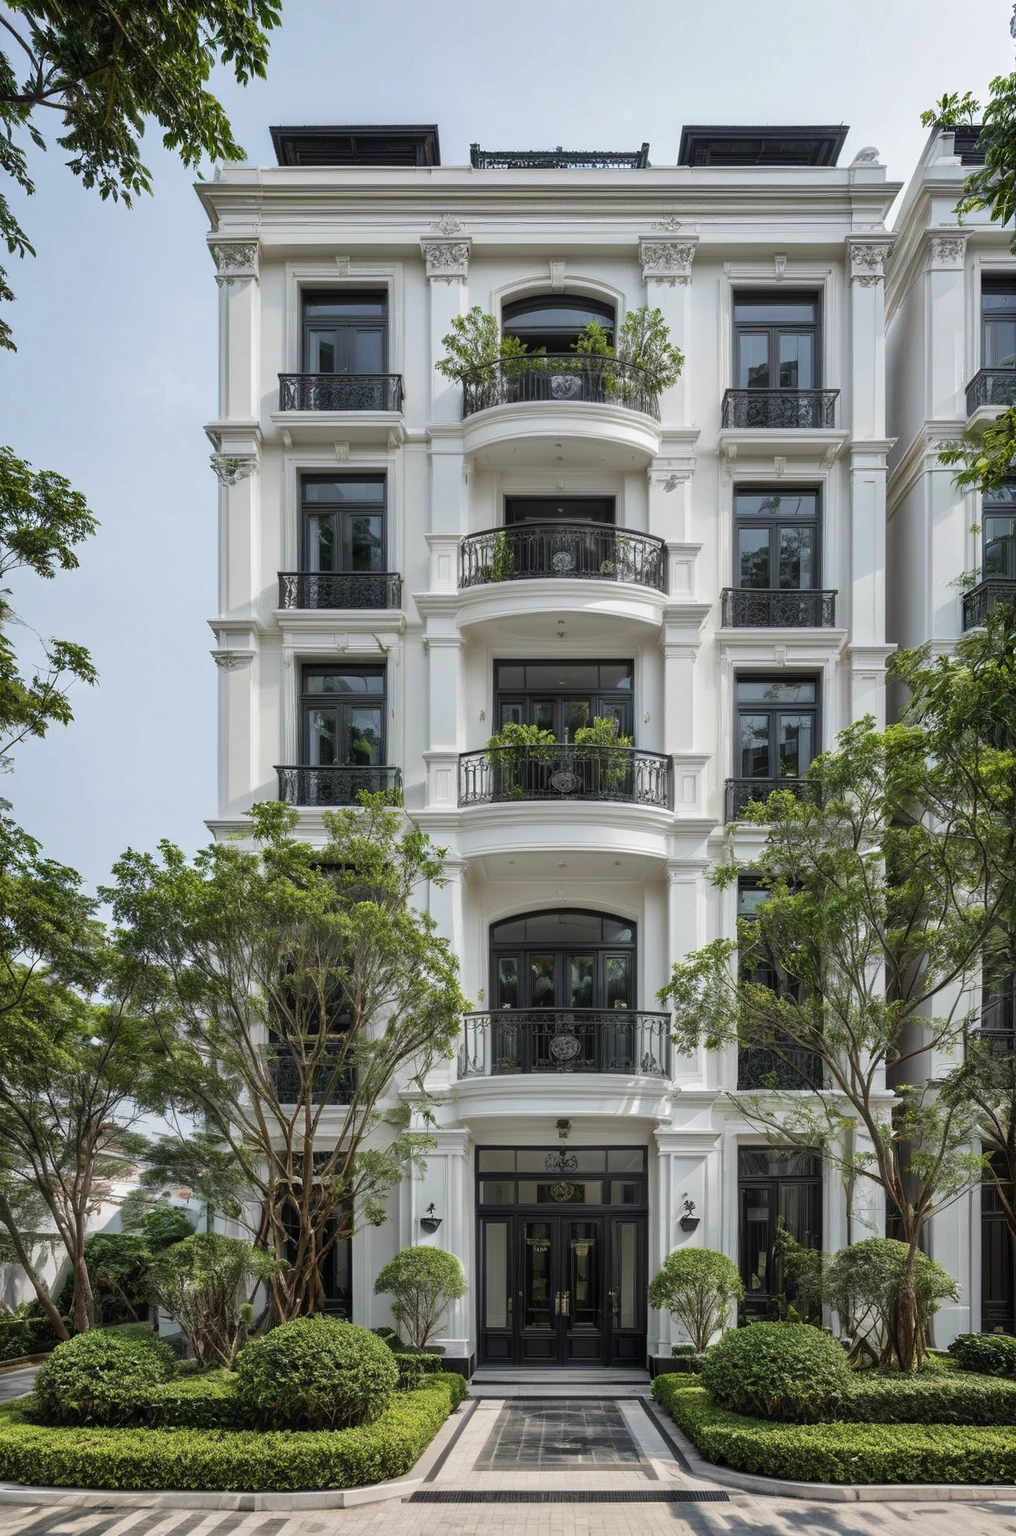
[[[739,487],[733,527],[735,587],[804,591],[821,585],[818,490]]]

